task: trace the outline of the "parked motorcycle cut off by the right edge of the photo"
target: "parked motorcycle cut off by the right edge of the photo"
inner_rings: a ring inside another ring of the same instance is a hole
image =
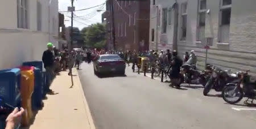
[[[240,102],[243,97],[247,97],[245,104],[247,101],[251,99],[251,103],[253,100],[256,99],[256,81],[248,75],[249,71],[240,72],[238,77],[240,81],[238,83],[229,83],[226,84],[226,87],[222,90],[222,98],[224,101],[228,102],[229,104],[236,104]]]

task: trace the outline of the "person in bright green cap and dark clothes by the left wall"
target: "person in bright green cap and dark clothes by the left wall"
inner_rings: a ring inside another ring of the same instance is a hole
[[[46,68],[46,90],[47,92],[52,92],[51,89],[49,89],[49,86],[51,85],[51,82],[55,76],[54,74],[54,55],[52,53],[53,50],[53,44],[51,42],[48,42],[47,44],[47,50],[44,51],[42,61],[44,63],[44,68]]]

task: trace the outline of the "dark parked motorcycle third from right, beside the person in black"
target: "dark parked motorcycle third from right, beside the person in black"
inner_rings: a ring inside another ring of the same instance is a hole
[[[207,65],[207,69],[204,71],[196,70],[196,67],[189,64],[181,66],[181,74],[184,76],[184,82],[188,84],[202,84],[205,86],[207,80],[213,71],[213,65]]]

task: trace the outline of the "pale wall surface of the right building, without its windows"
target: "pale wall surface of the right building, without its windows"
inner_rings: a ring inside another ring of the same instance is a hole
[[[224,69],[233,71],[250,70],[251,75],[256,76],[256,1],[255,0],[232,0],[229,42],[219,42],[219,19],[220,19],[220,1],[207,0],[207,10],[205,19],[205,37],[213,37],[213,45],[208,50],[208,63],[216,65]],[[170,6],[174,1],[162,0],[156,1],[156,5],[161,7]],[[177,0],[179,8],[178,25],[177,25],[177,51],[182,56],[185,51],[195,50],[197,54],[197,67],[204,68],[205,66],[205,49],[204,42],[196,41],[197,33],[197,17],[198,17],[198,2],[199,0]],[[181,4],[188,2],[187,5],[187,36],[186,40],[181,41]],[[152,6],[152,0],[151,0]],[[151,7],[152,10],[152,7]],[[156,19],[152,19],[155,14],[152,14],[150,19],[151,28],[156,27]],[[174,19],[174,18],[173,18]],[[162,23],[162,22],[160,22]],[[160,25],[161,27],[161,25]],[[156,29],[155,29],[156,30]],[[159,28],[159,30],[161,30]],[[173,34],[167,28],[168,41],[172,41]],[[160,39],[161,35],[158,36]],[[156,39],[156,36],[155,36]],[[150,33],[151,41],[151,33]],[[151,44],[151,49],[156,47]],[[161,49],[161,48],[158,48]]]

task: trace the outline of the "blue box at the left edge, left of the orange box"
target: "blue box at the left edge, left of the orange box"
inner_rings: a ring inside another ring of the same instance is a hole
[[[0,96],[7,104],[20,107],[20,69],[0,70]]]

